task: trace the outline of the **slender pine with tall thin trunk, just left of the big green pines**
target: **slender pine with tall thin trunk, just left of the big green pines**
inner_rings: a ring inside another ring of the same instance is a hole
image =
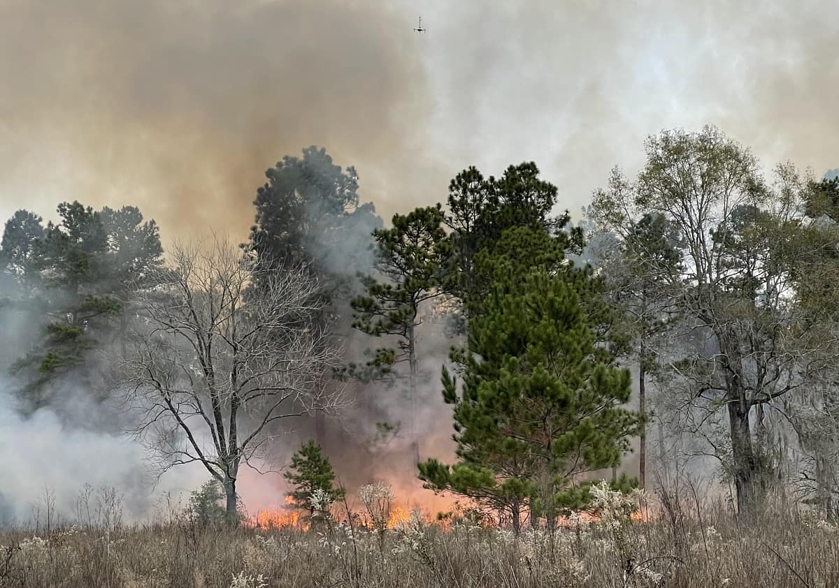
[[[410,403],[410,441],[414,462],[420,460],[417,431],[418,328],[423,322],[425,304],[440,296],[440,205],[395,214],[393,227],[373,231],[376,242],[374,267],[379,279],[365,276],[366,295],[352,301],[356,311],[354,326],[373,337],[395,341],[395,348],[378,348],[373,367],[389,370],[408,364]],[[400,374],[401,375],[401,374]],[[402,376],[404,377],[404,375]]]

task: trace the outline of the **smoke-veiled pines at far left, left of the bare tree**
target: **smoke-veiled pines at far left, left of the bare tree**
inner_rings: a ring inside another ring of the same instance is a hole
[[[23,296],[18,306],[43,329],[34,348],[13,365],[30,408],[49,400],[47,384],[70,370],[95,384],[91,352],[116,341],[128,320],[129,281],[143,281],[163,255],[157,224],[135,207],[96,211],[78,202],[59,204],[59,224],[18,211],[6,225],[3,258]]]

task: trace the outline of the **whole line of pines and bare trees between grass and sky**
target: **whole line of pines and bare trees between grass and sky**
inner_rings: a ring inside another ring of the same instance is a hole
[[[637,479],[618,487],[706,458],[738,512],[794,486],[836,516],[839,178],[765,178],[710,126],[644,148],[638,175],[615,168],[576,226],[533,162],[467,168],[445,202],[385,226],[356,170],[315,147],[268,169],[241,243],[164,255],[136,207],[62,203],[47,224],[19,210],[0,313],[20,410],[70,380],[118,400],[159,470],[201,463],[231,517],[240,468],[289,420],[340,418],[348,382],[410,407],[399,434],[425,487],[517,530],[524,513],[550,524],[580,507],[586,475],[635,439]],[[451,346],[451,464],[418,446],[432,316]],[[343,344],[353,332],[367,353]]]

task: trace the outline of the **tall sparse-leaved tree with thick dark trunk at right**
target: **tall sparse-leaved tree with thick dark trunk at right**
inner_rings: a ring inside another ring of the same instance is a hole
[[[651,364],[645,336],[672,311],[680,341],[669,345],[675,357],[662,375],[680,397],[668,402],[682,414],[701,411],[701,436],[732,475],[738,508],[753,508],[762,481],[777,475],[764,454],[772,443],[767,405],[803,391],[820,364],[836,361],[826,352],[833,328],[826,319],[836,316],[836,232],[821,218],[831,214],[836,184],[807,185],[789,165],[766,183],[748,148],[713,126],[649,137],[646,155],[637,180],[613,173],[592,207],[631,255],[623,258],[625,307],[642,315],[634,333],[641,372]],[[802,209],[820,218],[811,223]],[[722,422],[728,431],[716,427]]]

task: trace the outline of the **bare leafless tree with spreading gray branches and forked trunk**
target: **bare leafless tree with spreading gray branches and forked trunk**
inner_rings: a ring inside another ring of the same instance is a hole
[[[284,421],[338,408],[340,395],[322,385],[337,352],[311,318],[321,309],[308,272],[267,271],[219,240],[169,254],[159,286],[133,292],[142,320],[119,389],[159,472],[201,464],[235,522],[240,467],[258,467]]]

